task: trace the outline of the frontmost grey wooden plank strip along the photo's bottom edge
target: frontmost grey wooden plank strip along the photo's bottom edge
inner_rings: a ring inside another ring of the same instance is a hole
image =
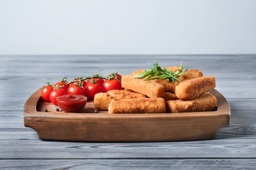
[[[255,159],[0,160],[1,169],[255,169]]]

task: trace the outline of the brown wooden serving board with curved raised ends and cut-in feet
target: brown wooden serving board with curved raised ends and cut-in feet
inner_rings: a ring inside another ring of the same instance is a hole
[[[56,106],[43,101],[41,89],[24,105],[24,126],[37,131],[39,139],[87,142],[153,142],[213,139],[230,124],[230,106],[217,90],[217,110],[158,114],[108,114],[95,112],[88,101],[81,113],[57,112]],[[45,112],[45,109],[48,112]]]

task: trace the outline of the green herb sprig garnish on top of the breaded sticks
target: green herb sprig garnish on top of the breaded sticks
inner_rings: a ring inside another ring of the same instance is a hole
[[[144,80],[153,80],[153,79],[161,79],[164,78],[168,82],[172,80],[173,82],[176,82],[178,80],[181,82],[181,80],[178,79],[179,76],[184,75],[188,69],[185,71],[182,71],[183,65],[181,62],[181,65],[179,67],[179,70],[173,72],[171,70],[168,70],[166,68],[162,69],[158,63],[154,63],[153,66],[149,70],[145,70],[143,73],[139,73],[134,78],[144,78]],[[147,77],[147,78],[145,78]]]

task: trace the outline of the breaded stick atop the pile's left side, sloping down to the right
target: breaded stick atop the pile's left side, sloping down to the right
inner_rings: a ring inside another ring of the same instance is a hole
[[[157,98],[165,95],[163,85],[152,80],[144,81],[142,78],[133,78],[133,75],[122,76],[121,84],[125,89],[142,93],[148,97]]]

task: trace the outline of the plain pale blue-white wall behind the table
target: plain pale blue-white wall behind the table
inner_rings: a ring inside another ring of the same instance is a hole
[[[256,1],[0,0],[0,54],[256,54]]]

